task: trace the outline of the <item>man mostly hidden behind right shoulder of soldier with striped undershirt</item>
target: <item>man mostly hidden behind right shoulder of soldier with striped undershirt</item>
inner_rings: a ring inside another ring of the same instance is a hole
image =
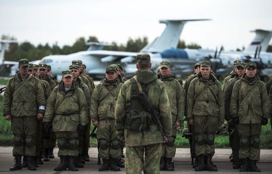
[[[90,113],[90,104],[91,104],[91,95],[89,92],[89,88],[88,86],[83,83],[81,81],[81,78],[79,77],[79,66],[78,65],[70,65],[69,70],[71,70],[72,75],[73,75],[73,80],[77,83],[77,85],[79,86],[80,89],[82,89],[82,91],[84,92],[85,98],[87,100],[87,104],[88,104],[88,110],[87,112]],[[92,91],[91,91],[92,93]],[[90,118],[88,117],[88,119],[90,120]],[[84,133],[86,132],[86,130],[84,131]],[[84,145],[84,133],[83,134],[79,134],[79,158],[78,160],[76,160],[75,164],[76,167],[78,168],[83,168],[83,164],[81,163],[85,163],[85,161],[82,158],[82,152],[83,152],[83,145]],[[88,136],[88,140],[90,140],[89,136]]]

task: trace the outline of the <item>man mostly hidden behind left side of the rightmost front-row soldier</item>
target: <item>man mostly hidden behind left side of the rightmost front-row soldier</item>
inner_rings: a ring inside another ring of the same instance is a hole
[[[228,85],[227,85],[227,89],[225,90],[224,96],[225,96],[225,119],[227,120],[228,126],[232,127],[232,131],[229,132],[229,139],[233,139],[232,142],[232,154],[233,154],[233,169],[240,169],[241,167],[241,162],[239,159],[239,142],[240,142],[240,138],[237,132],[237,129],[235,128],[235,124],[232,122],[231,116],[230,116],[230,112],[229,112],[229,104],[230,104],[230,99],[231,99],[231,94],[232,94],[232,89],[234,86],[234,83],[239,80],[245,73],[245,63],[241,62],[241,63],[237,63],[235,65],[235,76],[229,80]]]

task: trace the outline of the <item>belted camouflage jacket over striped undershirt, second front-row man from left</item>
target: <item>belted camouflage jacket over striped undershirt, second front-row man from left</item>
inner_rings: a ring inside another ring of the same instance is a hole
[[[88,123],[87,102],[84,92],[73,82],[68,92],[64,83],[53,89],[49,96],[45,109],[43,122],[52,121],[52,130],[77,131],[79,124],[85,126]]]

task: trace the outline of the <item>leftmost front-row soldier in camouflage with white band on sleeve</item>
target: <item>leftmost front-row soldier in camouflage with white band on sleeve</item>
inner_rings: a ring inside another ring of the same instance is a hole
[[[43,119],[45,98],[41,83],[34,75],[28,73],[27,59],[19,60],[20,70],[7,83],[2,114],[11,120],[14,135],[13,156],[15,165],[10,171],[21,170],[21,158],[26,156],[28,169],[36,170],[33,160],[36,155],[35,137],[37,118]]]

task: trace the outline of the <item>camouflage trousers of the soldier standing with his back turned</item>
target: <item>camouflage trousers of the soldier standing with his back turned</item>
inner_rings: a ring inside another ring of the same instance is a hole
[[[161,143],[126,146],[126,174],[160,174],[161,152]]]

